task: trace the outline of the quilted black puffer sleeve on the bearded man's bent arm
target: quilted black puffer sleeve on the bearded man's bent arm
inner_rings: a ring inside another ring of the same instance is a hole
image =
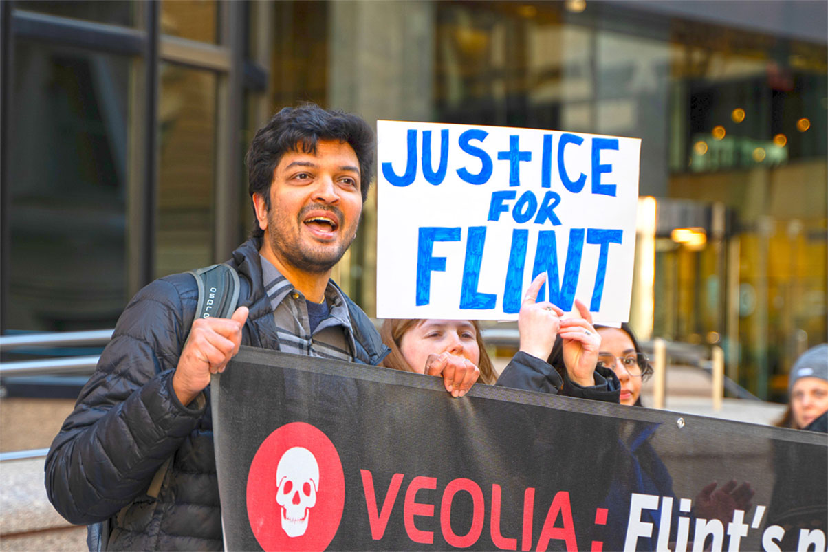
[[[103,521],[146,492],[205,411],[203,396],[187,407],[172,389],[197,296],[185,278],[152,282],[132,299],[51,444],[46,492],[72,523]]]

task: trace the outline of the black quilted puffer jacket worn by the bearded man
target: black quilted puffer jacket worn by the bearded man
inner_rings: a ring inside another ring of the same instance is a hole
[[[238,271],[238,305],[250,314],[242,343],[278,349],[255,238],[228,262]],[[166,276],[137,293],[46,458],[46,492],[68,521],[110,517],[110,550],[221,550],[209,387],[183,406],[172,374],[190,331],[198,290],[189,274]],[[347,300],[356,361],[388,351],[373,324]],[[147,496],[167,458],[157,500]]]

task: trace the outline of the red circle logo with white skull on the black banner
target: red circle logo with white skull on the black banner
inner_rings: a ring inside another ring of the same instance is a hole
[[[339,453],[313,425],[282,425],[253,457],[247,497],[250,528],[262,549],[325,550],[345,502]]]

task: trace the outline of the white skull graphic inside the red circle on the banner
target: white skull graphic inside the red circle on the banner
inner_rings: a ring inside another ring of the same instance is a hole
[[[287,449],[276,468],[276,502],[282,506],[282,529],[287,536],[305,535],[310,508],[316,505],[319,464],[304,447]]]

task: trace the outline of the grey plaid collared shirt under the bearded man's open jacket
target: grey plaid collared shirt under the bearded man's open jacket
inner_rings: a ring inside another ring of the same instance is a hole
[[[332,281],[325,289],[328,317],[310,333],[310,319],[305,295],[266,258],[262,260],[262,281],[267,298],[273,309],[279,348],[284,353],[302,354],[309,357],[335,358],[354,362],[354,332],[348,307],[339,288]]]

